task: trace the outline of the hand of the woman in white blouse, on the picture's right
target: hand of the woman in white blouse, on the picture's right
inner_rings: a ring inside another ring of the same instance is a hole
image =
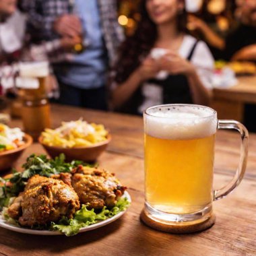
[[[183,57],[171,51],[160,59],[160,69],[168,71],[170,75],[191,75],[195,73],[195,67],[187,59],[183,59]]]

